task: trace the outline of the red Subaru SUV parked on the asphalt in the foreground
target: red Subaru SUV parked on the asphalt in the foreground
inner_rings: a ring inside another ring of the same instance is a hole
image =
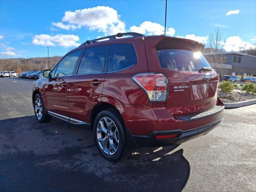
[[[34,82],[36,119],[90,124],[110,161],[136,147],[205,135],[222,121],[224,104],[203,48],[193,40],[138,33],[86,41]]]

